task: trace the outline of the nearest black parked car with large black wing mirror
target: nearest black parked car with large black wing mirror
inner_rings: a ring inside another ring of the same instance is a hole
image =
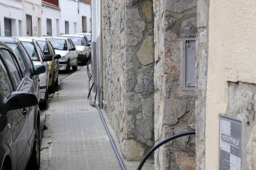
[[[34,73],[45,72],[35,65]],[[35,87],[18,58],[0,42],[0,170],[39,170],[40,111]]]

